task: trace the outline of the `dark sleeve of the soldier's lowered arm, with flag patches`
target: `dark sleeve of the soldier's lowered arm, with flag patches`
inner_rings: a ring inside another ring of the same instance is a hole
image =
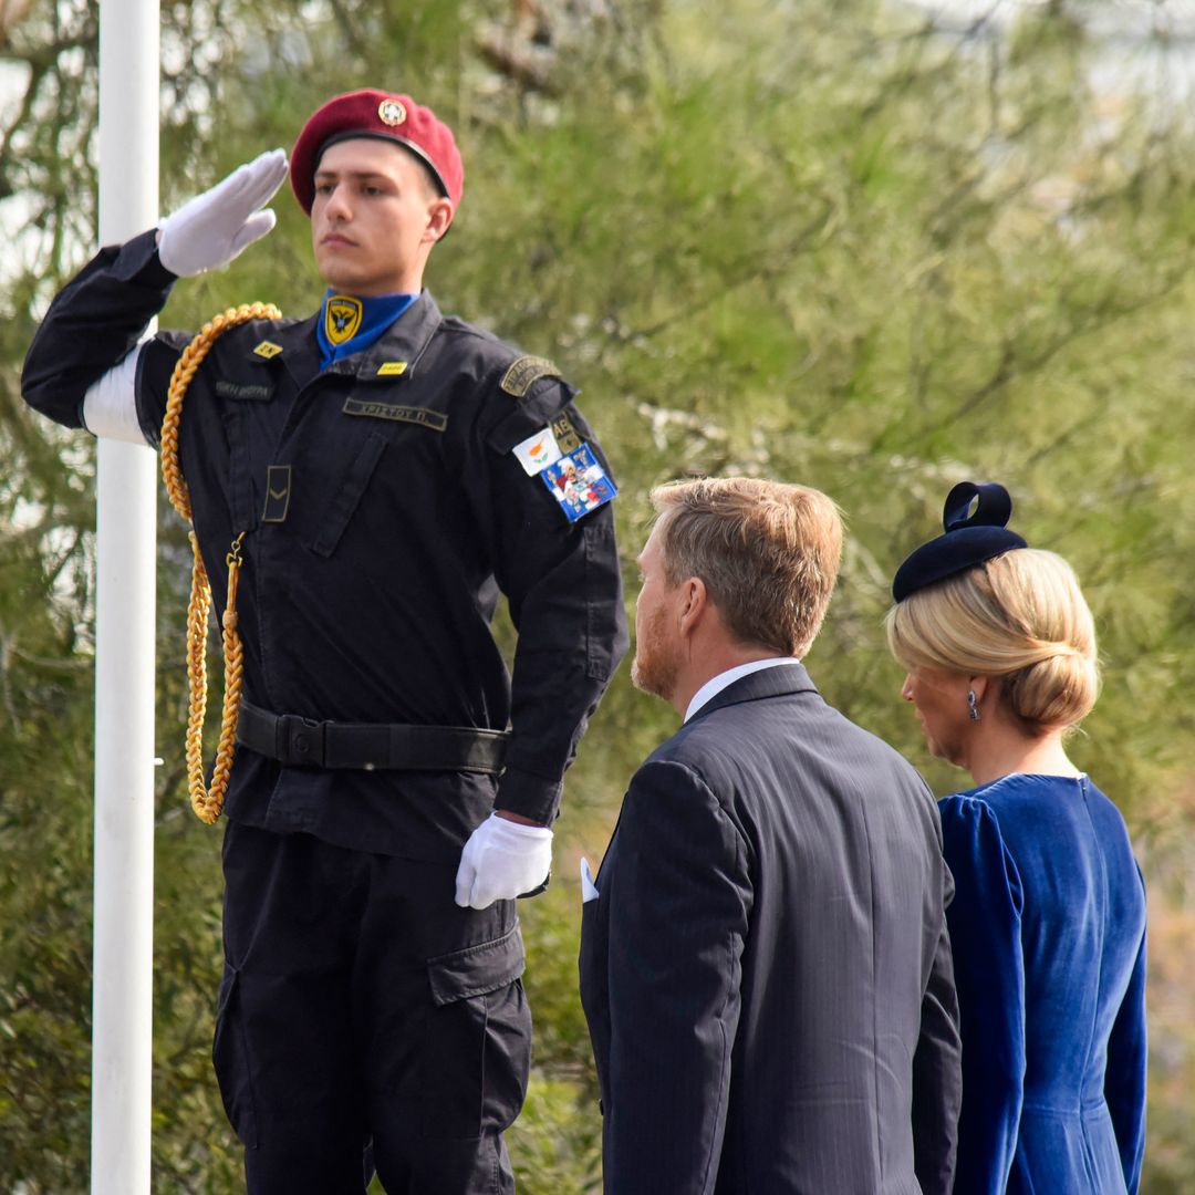
[[[496,808],[550,823],[562,777],[586,724],[626,652],[626,613],[611,502],[570,522],[515,445],[566,416],[608,473],[593,431],[559,379],[517,405],[485,436],[491,478],[494,571],[519,632],[511,678],[511,735]]]

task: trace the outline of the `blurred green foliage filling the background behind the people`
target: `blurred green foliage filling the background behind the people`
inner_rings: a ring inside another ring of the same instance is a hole
[[[1018,528],[1072,560],[1096,611],[1105,686],[1076,756],[1160,889],[1193,808],[1195,154],[1172,97],[1095,86],[1083,18],[1099,7],[950,32],[868,0],[584,18],[545,2],[532,38],[497,0],[196,0],[163,11],[163,204],[290,145],[325,94],[390,82],[435,106],[466,189],[429,284],[582,388],[621,486],[629,602],[651,485],[747,472],[825,489],[850,539],[810,669],[942,792],[963,778],[926,758],[899,700],[887,586],[950,484],[1005,482]],[[0,59],[49,62],[0,146],[0,180],[36,198],[35,264],[8,271],[0,321],[0,1173],[31,1191],[81,1190],[87,1160],[91,449],[24,412],[17,369],[41,296],[87,252],[88,12],[42,0],[0,41]],[[55,56],[63,31],[82,48]],[[164,324],[314,306],[305,221],[286,194],[275,207],[269,249],[179,287]],[[239,1158],[207,1056],[219,835],[186,813],[178,766],[186,547],[168,515],[160,556],[155,1187],[226,1191]],[[674,725],[624,668],[569,776],[557,880],[521,911],[537,1047],[510,1147],[527,1191],[596,1189],[576,863],[600,859],[627,777]],[[1154,956],[1144,1189],[1177,1191],[1195,1183],[1195,1044],[1172,999],[1184,975]]]

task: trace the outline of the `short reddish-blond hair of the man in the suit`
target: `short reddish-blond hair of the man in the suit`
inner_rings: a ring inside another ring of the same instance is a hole
[[[798,660],[826,617],[842,522],[825,494],[750,477],[651,491],[669,586],[699,577],[741,643]]]

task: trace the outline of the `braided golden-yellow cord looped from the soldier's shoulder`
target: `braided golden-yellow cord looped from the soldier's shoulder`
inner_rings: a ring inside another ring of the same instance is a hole
[[[223,709],[220,717],[220,744],[212,771],[212,788],[203,783],[203,717],[208,707],[208,668],[206,660],[208,614],[212,611],[212,586],[200,541],[195,537],[191,520],[191,495],[178,460],[178,425],[183,415],[183,397],[195,376],[195,370],[208,355],[216,339],[229,327],[250,319],[281,319],[282,312],[272,304],[243,304],[229,307],[204,324],[198,335],[183,350],[174,366],[166,396],[166,416],[161,424],[161,476],[166,483],[170,504],[191,523],[191,552],[195,564],[191,569],[191,598],[186,607],[186,782],[191,796],[191,808],[196,816],[209,826],[223,809],[228,776],[232,772],[233,753],[237,749],[237,712],[240,706],[240,688],[244,657],[240,635],[237,632],[237,582],[240,577],[241,541],[245,532],[232,541],[228,551],[228,596],[223,614]],[[247,529],[247,528],[246,528]]]

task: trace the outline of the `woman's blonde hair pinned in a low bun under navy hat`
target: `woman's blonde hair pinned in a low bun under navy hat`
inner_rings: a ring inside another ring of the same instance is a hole
[[[1074,570],[1022,547],[909,594],[888,612],[888,645],[909,670],[1000,680],[1032,733],[1077,725],[1096,704],[1096,631]]]

